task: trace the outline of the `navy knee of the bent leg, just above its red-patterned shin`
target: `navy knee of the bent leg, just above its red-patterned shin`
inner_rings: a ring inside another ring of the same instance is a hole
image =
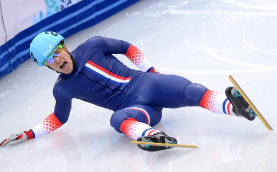
[[[110,124],[117,132],[122,133],[120,131],[120,125],[124,120],[126,120],[128,118],[130,118],[130,117],[128,116],[127,113],[119,110],[112,114]]]

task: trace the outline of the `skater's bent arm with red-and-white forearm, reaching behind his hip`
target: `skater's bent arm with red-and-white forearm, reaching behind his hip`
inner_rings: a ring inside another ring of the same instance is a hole
[[[149,62],[149,60],[144,56],[144,54],[133,46],[132,44],[112,39],[99,37],[100,44],[102,44],[102,49],[106,54],[124,54],[136,67],[144,72],[155,72],[159,73]]]

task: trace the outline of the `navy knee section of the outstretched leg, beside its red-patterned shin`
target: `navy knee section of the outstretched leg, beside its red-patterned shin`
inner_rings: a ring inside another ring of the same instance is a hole
[[[185,96],[191,106],[199,106],[199,103],[207,90],[206,87],[199,83],[190,83],[186,85]]]

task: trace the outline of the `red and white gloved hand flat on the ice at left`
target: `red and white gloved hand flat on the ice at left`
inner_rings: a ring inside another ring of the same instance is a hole
[[[19,144],[19,143],[23,143],[27,140],[30,140],[30,139],[33,139],[34,138],[34,135],[32,133],[31,130],[27,130],[27,131],[24,131],[23,133],[19,133],[19,134],[12,134],[11,137],[3,140],[1,143],[0,143],[0,146],[1,147],[4,147],[6,144],[11,143],[11,146],[14,146],[16,144]]]

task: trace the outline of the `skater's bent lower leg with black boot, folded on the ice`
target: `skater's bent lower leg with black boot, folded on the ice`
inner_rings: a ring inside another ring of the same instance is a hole
[[[160,122],[161,109],[149,105],[133,105],[116,111],[111,117],[111,126],[118,132],[126,134],[133,140],[177,144],[177,140],[163,131],[152,128]],[[137,145],[143,150],[158,151],[171,147]]]

